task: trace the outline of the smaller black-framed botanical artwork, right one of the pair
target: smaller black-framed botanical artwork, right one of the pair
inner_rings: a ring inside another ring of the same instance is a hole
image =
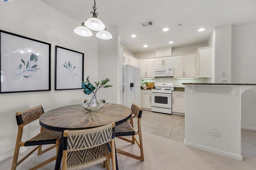
[[[55,46],[55,90],[82,89],[84,53]]]

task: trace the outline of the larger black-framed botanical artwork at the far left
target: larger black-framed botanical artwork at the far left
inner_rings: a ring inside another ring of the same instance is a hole
[[[51,90],[51,44],[0,30],[0,93]]]

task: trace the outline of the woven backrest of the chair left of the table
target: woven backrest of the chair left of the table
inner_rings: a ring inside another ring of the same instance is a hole
[[[44,113],[42,105],[36,106],[30,109],[26,109],[16,113],[17,124],[25,126],[26,124],[39,119],[39,117]]]

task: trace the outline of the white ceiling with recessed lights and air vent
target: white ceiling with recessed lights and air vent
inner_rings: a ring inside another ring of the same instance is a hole
[[[41,1],[81,23],[92,17],[93,0]],[[107,28],[118,26],[121,45],[134,53],[168,47],[169,41],[172,47],[206,43],[214,27],[256,23],[255,6],[256,0],[96,0],[98,18]],[[149,20],[154,25],[142,27]],[[198,32],[201,27],[206,30]]]

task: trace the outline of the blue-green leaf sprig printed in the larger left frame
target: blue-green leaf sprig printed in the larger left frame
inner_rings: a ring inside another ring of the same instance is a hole
[[[32,72],[37,72],[37,70],[40,70],[40,68],[36,68],[38,66],[38,63],[36,63],[38,61],[38,56],[32,54],[30,56],[30,61],[28,62],[25,62],[23,59],[20,59],[21,62],[23,64],[20,64],[18,66],[19,68],[19,74],[15,75],[15,76],[18,76],[22,73],[29,73],[30,72],[30,75],[25,75],[23,77],[25,78],[29,78],[29,77],[32,77]],[[24,66],[23,66],[24,65]],[[22,74],[23,75],[23,74]]]

